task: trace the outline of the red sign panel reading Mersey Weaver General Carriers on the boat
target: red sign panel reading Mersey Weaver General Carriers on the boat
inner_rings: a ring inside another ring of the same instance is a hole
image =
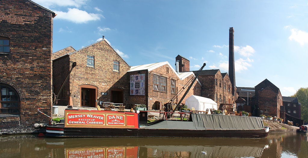
[[[69,125],[104,125],[103,114],[75,114],[67,113],[67,124]]]

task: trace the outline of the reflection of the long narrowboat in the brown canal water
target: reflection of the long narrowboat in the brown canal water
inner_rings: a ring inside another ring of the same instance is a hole
[[[261,157],[268,147],[267,139],[243,138],[46,138],[46,141],[49,148],[64,146],[67,158]]]

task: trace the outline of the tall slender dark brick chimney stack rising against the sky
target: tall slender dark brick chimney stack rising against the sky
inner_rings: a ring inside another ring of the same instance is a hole
[[[234,69],[234,30],[233,27],[229,29],[229,78],[232,84],[232,94],[234,99],[237,99],[236,85],[235,85],[235,69]]]

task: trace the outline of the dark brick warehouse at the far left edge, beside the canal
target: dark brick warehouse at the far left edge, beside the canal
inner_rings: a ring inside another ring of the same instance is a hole
[[[51,115],[55,13],[30,0],[0,3],[0,134],[29,132]]]

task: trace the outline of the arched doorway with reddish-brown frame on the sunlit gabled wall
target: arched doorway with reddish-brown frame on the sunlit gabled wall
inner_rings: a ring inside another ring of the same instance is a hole
[[[96,107],[97,87],[92,85],[80,86],[80,105],[82,107]]]

